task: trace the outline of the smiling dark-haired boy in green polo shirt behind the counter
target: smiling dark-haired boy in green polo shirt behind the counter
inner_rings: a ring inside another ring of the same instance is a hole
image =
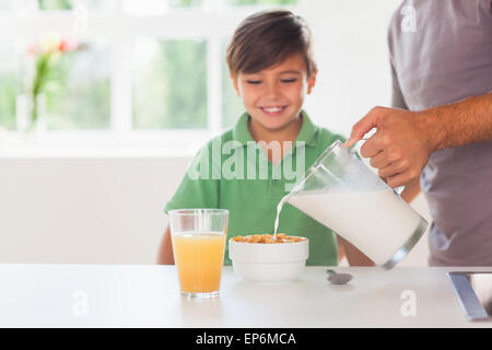
[[[302,18],[290,11],[248,16],[234,33],[226,60],[246,113],[233,129],[211,140],[197,154],[165,212],[184,208],[227,209],[229,237],[271,233],[277,205],[292,185],[285,174],[274,176],[279,168],[296,164],[295,171],[304,174],[327,147],[344,139],[316,127],[302,109],[317,74],[311,32]],[[225,144],[225,153],[231,155],[218,156],[218,144]],[[235,170],[244,167],[248,174],[258,173],[262,159],[268,164],[268,176],[213,176],[224,175],[231,158]],[[190,176],[197,174],[197,166],[201,176]],[[341,245],[351,265],[372,265],[356,248],[340,238],[337,242],[332,231],[290,205],[283,207],[279,232],[309,238],[307,265],[336,266]],[[157,264],[174,264],[169,228],[164,233]],[[224,264],[231,265],[227,247]]]

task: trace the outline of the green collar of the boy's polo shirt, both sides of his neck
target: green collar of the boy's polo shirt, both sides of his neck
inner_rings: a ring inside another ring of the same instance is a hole
[[[303,118],[303,126],[298,131],[295,141],[305,142],[306,145],[316,144],[316,131],[317,127],[313,124],[307,113],[301,110],[301,117]],[[249,115],[244,113],[233,129],[233,139],[238,141],[242,145],[247,145],[248,142],[255,142],[248,128]]]

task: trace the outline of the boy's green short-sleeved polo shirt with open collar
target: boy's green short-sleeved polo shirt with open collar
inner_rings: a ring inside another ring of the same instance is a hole
[[[254,141],[248,129],[249,116],[243,114],[233,129],[212,139],[198,152],[164,211],[227,209],[229,238],[273,233],[277,206],[282,197],[326,148],[335,140],[344,141],[340,135],[316,127],[305,112],[300,117],[303,125],[296,141],[273,165]],[[281,211],[278,232],[309,240],[306,265],[338,264],[335,233],[289,203]],[[229,245],[224,264],[231,265]]]

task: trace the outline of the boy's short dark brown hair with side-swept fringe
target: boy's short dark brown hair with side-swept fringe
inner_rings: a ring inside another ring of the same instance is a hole
[[[316,70],[312,35],[307,23],[290,11],[262,11],[246,18],[237,27],[227,47],[226,60],[233,77],[256,73],[301,54],[307,77]]]

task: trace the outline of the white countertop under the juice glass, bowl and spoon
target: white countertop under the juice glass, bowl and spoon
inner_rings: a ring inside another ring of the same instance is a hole
[[[224,267],[221,296],[196,301],[174,266],[1,264],[0,327],[492,327],[467,320],[446,275],[492,268],[337,268],[349,285],[325,269],[258,285]]]

